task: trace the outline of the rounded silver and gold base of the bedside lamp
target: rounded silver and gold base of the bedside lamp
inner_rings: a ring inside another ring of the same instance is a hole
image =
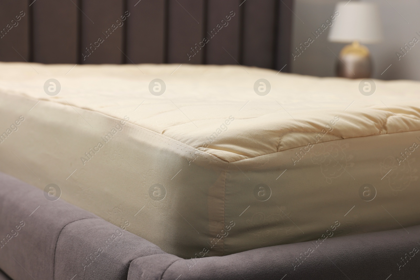
[[[350,79],[370,78],[372,60],[367,47],[358,42],[346,45],[340,52],[336,73],[338,77]]]

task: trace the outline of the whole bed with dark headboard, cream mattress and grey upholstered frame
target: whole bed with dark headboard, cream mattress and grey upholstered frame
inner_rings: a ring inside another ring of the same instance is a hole
[[[5,2],[0,269],[14,280],[416,275],[402,258],[419,235],[419,82],[287,73],[292,8]],[[102,254],[108,236],[118,246]]]

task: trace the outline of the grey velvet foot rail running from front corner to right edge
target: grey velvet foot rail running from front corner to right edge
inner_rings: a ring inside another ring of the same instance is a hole
[[[154,255],[132,261],[128,280],[280,280],[283,277],[285,280],[385,280],[390,275],[389,279],[393,280],[418,279],[419,240],[420,226],[414,226],[327,238],[322,243],[309,241],[249,250],[223,257],[197,257],[195,261]],[[312,253],[309,248],[313,250]],[[144,273],[146,269],[147,273]]]

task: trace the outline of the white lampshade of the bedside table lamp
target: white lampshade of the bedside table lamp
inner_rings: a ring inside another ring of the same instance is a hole
[[[340,15],[331,26],[329,41],[340,43],[358,41],[373,44],[382,40],[381,18],[374,3],[339,2],[336,10]]]

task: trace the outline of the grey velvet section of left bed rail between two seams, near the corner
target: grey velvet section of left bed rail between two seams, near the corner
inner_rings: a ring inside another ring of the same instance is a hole
[[[79,220],[67,225],[58,238],[55,279],[77,275],[78,279],[124,280],[133,259],[160,254],[164,252],[155,244],[105,220]]]

